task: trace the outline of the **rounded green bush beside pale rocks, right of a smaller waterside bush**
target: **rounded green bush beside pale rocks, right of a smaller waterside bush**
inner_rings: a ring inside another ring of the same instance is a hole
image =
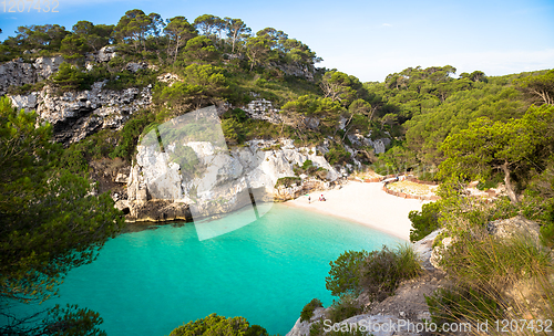
[[[394,293],[400,282],[420,273],[418,254],[412,246],[400,245],[396,251],[383,246],[363,262],[360,283],[371,298],[383,301]]]

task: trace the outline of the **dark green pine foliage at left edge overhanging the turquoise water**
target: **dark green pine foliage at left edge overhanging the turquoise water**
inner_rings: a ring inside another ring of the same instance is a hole
[[[34,113],[0,98],[0,297],[23,303],[55,295],[64,275],[92,262],[124,224],[107,193],[92,195],[89,180],[58,168],[52,127],[35,125]],[[50,313],[88,315],[60,312]]]

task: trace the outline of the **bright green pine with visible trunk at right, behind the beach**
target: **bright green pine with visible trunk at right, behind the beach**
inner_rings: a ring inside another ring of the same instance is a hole
[[[506,123],[479,118],[444,140],[441,149],[445,160],[439,167],[440,176],[484,180],[501,170],[510,200],[517,203],[513,176],[545,168],[547,153],[542,149],[554,141],[553,125],[554,106],[548,105],[532,106],[522,118]]]

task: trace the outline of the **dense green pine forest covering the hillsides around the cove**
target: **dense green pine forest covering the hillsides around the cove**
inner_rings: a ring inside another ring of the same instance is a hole
[[[116,56],[106,64],[88,66],[91,53],[106,48]],[[479,70],[456,75],[451,65],[416,66],[390,74],[383,82],[362,83],[353,75],[317,67],[321,59],[308,45],[274,28],[254,33],[240,19],[211,14],[194,21],[163,19],[136,9],[112,25],[79,21],[71,30],[58,24],[20,27],[16,36],[0,44],[0,62],[32,62],[53,55],[65,61],[58,73],[10,87],[8,94],[51,86],[61,95],[90,90],[93,83],[104,81],[106,88],[115,91],[152,85],[153,104],[130,116],[119,130],[103,129],[62,148],[50,141],[51,127],[34,128],[37,115],[18,114],[8,99],[1,101],[2,297],[47,298],[69,269],[91,262],[95,249],[121,229],[121,217],[106,210],[113,206],[107,196],[84,197],[94,161],[120,158],[130,164],[143,130],[209,105],[227,111],[222,115],[222,127],[230,146],[255,138],[287,137],[312,145],[325,141],[329,148],[325,156],[331,165],[359,169],[356,160],[382,175],[409,171],[420,179],[440,181],[442,200],[411,216],[413,240],[439,227],[459,232],[456,222],[482,227],[491,220],[523,214],[541,224],[544,245],[554,244],[554,70],[488,76]],[[129,70],[127,64],[143,62],[148,66]],[[179,81],[173,85],[157,81],[164,73]],[[280,111],[283,124],[248,118],[240,109],[259,98]],[[350,140],[358,134],[389,138],[391,144],[386,153],[376,154],[369,146]],[[57,195],[54,183],[42,183],[54,177],[66,186],[65,193]],[[479,180],[481,188],[503,182],[507,196],[492,202],[464,198],[463,188],[472,180]],[[80,206],[68,212],[44,207],[63,202]],[[104,209],[104,217],[89,213],[91,207]],[[80,209],[89,210],[75,216]],[[48,230],[19,223],[22,216],[63,232],[64,241],[54,242]],[[95,230],[96,234],[71,238],[65,232],[70,227]],[[18,253],[13,246],[19,246]],[[79,253],[68,252],[74,249]],[[462,250],[459,255],[468,252]],[[461,288],[464,293],[483,290],[479,287],[482,283],[474,284],[464,282]],[[50,313],[65,313],[65,325],[50,317],[42,329],[20,330],[45,335],[44,330],[74,328],[81,319],[91,333],[102,333],[92,329],[98,315],[78,312],[58,308]],[[214,323],[220,323],[216,317],[212,317]],[[16,330],[20,325],[12,327]],[[244,322],[243,327],[249,328]]]

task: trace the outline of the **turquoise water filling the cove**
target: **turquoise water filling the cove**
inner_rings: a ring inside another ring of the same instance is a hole
[[[226,218],[224,220],[233,220]],[[244,316],[285,335],[325,288],[329,261],[399,239],[283,204],[229,233],[198,241],[194,224],[163,225],[109,241],[95,262],[71,271],[50,303],[96,311],[109,336],[168,335],[212,313]]]

